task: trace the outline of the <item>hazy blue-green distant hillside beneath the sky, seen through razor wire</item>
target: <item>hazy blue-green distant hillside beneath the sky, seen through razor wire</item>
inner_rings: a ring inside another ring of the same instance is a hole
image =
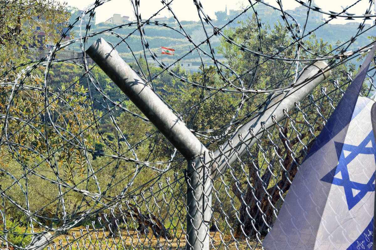
[[[280,18],[280,15],[277,15],[277,11],[271,9],[271,8],[265,8],[261,5],[256,5],[255,8],[258,17],[261,19],[261,22],[264,25],[270,25],[273,26],[274,23],[278,21],[282,21],[282,18]],[[246,18],[249,18],[253,12],[248,11],[246,14],[240,15],[239,18],[237,18],[235,21],[233,21],[230,25],[227,25],[228,27],[236,27],[239,26],[240,22]],[[291,15],[294,16],[292,13]],[[233,16],[235,17],[235,16]],[[213,20],[214,26],[222,27],[224,24],[227,23],[228,20],[232,19],[233,17],[227,16],[225,20],[218,21]],[[305,23],[304,17],[296,17],[297,21],[300,24],[300,28],[303,28],[303,25]],[[73,21],[73,20],[71,20]],[[161,22],[160,22],[161,23]],[[206,35],[203,29],[203,25],[201,22],[194,22],[194,21],[180,21],[182,24],[183,29],[180,29],[177,22],[167,22],[167,26],[164,26],[165,24],[162,22],[162,25],[155,25],[155,23],[147,23],[144,26],[144,37],[146,39],[147,44],[149,44],[149,48],[152,51],[152,53],[155,53],[158,56],[158,59],[161,58],[161,46],[172,48],[175,50],[174,56],[164,55],[162,57],[164,62],[171,62],[177,60],[177,58],[182,58],[181,60],[183,62],[201,62],[199,53],[197,50],[194,50],[194,45],[188,41],[188,39],[183,35],[184,31],[191,36],[192,40],[196,45],[199,45],[203,41],[206,40]],[[311,20],[307,23],[306,31],[304,35],[308,33],[308,31],[311,31],[315,29],[316,27],[323,24],[324,21],[316,18],[315,20]],[[208,32],[208,35],[213,34],[213,27],[211,25],[205,24],[205,30]],[[115,24],[111,23],[99,23],[97,25],[92,25],[90,32],[100,32],[103,30],[111,29],[114,27]],[[322,39],[323,42],[328,42],[329,44],[335,46],[335,44],[340,41],[344,42],[349,40],[352,36],[356,34],[358,31],[359,23],[356,22],[350,22],[347,24],[326,24],[323,27],[320,27],[319,29],[315,30],[314,33],[316,35],[316,38]],[[364,27],[364,30],[370,27],[369,24],[366,24]],[[77,29],[75,27],[74,29]],[[76,34],[77,34],[76,30]],[[136,57],[144,56],[143,55],[143,46],[140,41],[139,31],[136,29],[136,25],[132,24],[131,26],[123,26],[120,29],[115,29],[112,32],[118,34],[120,37],[125,38],[126,43],[131,48],[133,54],[135,54]],[[350,45],[350,47],[347,50],[354,50],[362,45],[365,45],[368,43],[367,36],[372,35],[370,31],[365,32],[361,36],[359,36],[355,42]],[[107,32],[103,33],[101,35],[106,41],[111,42],[112,44],[116,44],[119,41],[119,38],[115,36],[114,34]],[[220,46],[220,36],[212,36],[210,39],[211,42],[211,48],[214,50],[214,53],[217,53],[217,47]],[[307,36],[308,38],[308,36]],[[88,44],[92,43],[93,40],[96,38],[91,38],[88,41]],[[205,50],[206,53],[210,53],[210,49],[208,44],[204,43],[203,45],[200,45],[200,48],[202,50]],[[133,60],[133,55],[131,51],[128,49],[127,45],[125,43],[121,44],[117,47],[117,50],[119,51],[121,57],[127,60]],[[193,53],[190,53],[189,51],[193,50]],[[203,53],[201,53],[203,62],[207,63],[208,65],[212,64],[212,60],[210,57],[205,56]],[[150,53],[147,53],[148,59],[152,60],[150,57]],[[224,60],[224,58],[221,55],[216,55],[217,59]],[[353,62],[355,64],[359,64],[357,62]]]

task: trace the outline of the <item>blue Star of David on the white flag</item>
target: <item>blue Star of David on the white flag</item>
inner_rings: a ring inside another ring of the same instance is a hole
[[[371,142],[371,147],[366,147],[367,144]],[[334,142],[335,149],[337,151],[338,165],[327,173],[320,181],[329,182],[334,185],[343,186],[346,195],[347,206],[352,209],[368,192],[375,190],[375,185],[373,184],[375,180],[375,174],[373,173],[370,180],[366,184],[359,182],[350,181],[349,171],[347,169],[347,164],[349,164],[358,154],[367,154],[374,155],[376,162],[376,143],[374,141],[373,131],[371,131],[367,137],[358,145],[350,145],[341,142]],[[350,154],[346,157],[343,154],[343,151],[349,151]],[[367,166],[367,163],[364,163]],[[374,166],[374,164],[371,164]],[[334,177],[339,172],[341,172],[342,179]],[[353,196],[352,189],[358,191],[358,193]]]

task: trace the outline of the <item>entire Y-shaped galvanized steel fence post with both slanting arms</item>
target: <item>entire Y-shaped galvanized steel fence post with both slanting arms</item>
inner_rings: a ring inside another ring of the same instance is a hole
[[[315,62],[305,68],[286,93],[272,98],[266,107],[232,136],[231,145],[228,142],[222,146],[224,154],[217,150],[214,157],[209,157],[208,149],[105,40],[98,39],[86,53],[188,161],[186,248],[192,250],[209,249],[211,181],[224,173],[237,157],[241,157],[246,148],[257,141],[256,137],[260,139],[265,134],[265,128],[282,120],[284,110],[291,110],[296,102],[301,101],[330,75],[329,70],[325,71],[327,65],[324,62]],[[250,128],[253,133],[250,133]]]

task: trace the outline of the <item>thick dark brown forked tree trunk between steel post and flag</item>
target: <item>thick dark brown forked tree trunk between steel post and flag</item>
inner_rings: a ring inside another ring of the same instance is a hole
[[[235,226],[236,237],[253,236],[257,232],[261,233],[261,235],[266,235],[268,227],[273,225],[275,215],[271,205],[275,207],[282,195],[290,188],[290,183],[297,173],[298,164],[302,162],[306,155],[306,152],[302,149],[295,159],[292,157],[290,149],[299,142],[299,138],[296,137],[288,141],[286,140],[287,134],[287,128],[285,128],[283,134],[280,134],[282,143],[285,146],[286,155],[282,165],[287,171],[282,173],[282,179],[276,185],[268,188],[271,172],[265,171],[264,175],[260,178],[259,163],[258,160],[255,160],[252,161],[253,166],[249,166],[249,182],[252,185],[248,184],[244,192],[241,191],[237,183],[233,183],[231,186],[232,192],[241,203],[239,209],[241,222],[238,222]],[[300,140],[305,136],[306,134],[302,134]],[[315,139],[308,143],[307,152],[311,149],[314,142]],[[279,155],[284,155],[282,150],[278,149],[278,151]]]

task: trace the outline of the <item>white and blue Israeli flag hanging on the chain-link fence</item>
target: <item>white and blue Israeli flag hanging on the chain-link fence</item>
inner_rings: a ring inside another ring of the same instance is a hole
[[[373,248],[376,105],[359,92],[375,49],[298,170],[267,250]]]

